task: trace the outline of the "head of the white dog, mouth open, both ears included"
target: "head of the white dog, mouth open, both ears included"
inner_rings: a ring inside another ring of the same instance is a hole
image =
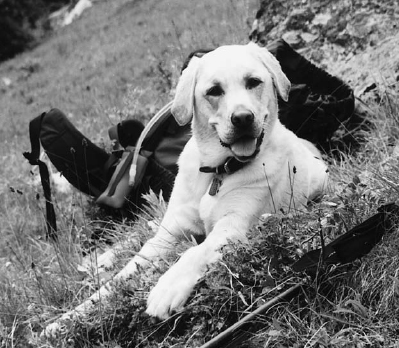
[[[194,117],[194,135],[217,137],[245,161],[256,155],[277,119],[277,94],[290,82],[280,64],[254,43],[222,46],[193,57],[176,88],[172,113],[180,125]]]

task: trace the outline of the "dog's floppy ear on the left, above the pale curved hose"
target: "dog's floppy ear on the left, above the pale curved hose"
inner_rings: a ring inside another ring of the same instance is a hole
[[[194,90],[200,58],[192,57],[180,76],[172,103],[172,114],[180,126],[189,123],[194,112]]]

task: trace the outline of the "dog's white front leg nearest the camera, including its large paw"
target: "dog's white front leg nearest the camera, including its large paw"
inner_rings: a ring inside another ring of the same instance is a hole
[[[211,263],[221,258],[221,248],[229,240],[246,241],[250,224],[236,214],[225,215],[214,226],[205,241],[188,249],[158,281],[147,301],[147,313],[160,319],[179,311],[198,280]]]

